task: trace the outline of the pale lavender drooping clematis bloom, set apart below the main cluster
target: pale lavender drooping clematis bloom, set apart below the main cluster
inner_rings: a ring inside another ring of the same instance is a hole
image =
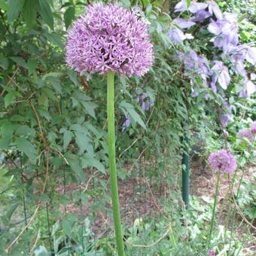
[[[226,66],[224,66],[223,62],[215,60],[215,65],[212,67],[212,90],[216,93],[216,82],[226,90],[227,86],[230,84],[230,75]]]

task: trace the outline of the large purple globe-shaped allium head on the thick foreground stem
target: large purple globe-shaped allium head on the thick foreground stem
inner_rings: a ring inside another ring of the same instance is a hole
[[[142,76],[154,59],[145,19],[118,5],[94,4],[69,29],[66,62],[75,71]]]

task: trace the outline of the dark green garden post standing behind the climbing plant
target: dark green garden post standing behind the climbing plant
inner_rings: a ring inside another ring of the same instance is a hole
[[[182,157],[182,200],[186,208],[189,207],[189,175],[190,175],[190,165],[189,165],[189,139],[184,136],[184,153]]]

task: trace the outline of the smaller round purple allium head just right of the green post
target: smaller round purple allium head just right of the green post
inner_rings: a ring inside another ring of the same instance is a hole
[[[236,159],[230,151],[221,149],[209,155],[209,166],[222,174],[232,174],[236,170]]]

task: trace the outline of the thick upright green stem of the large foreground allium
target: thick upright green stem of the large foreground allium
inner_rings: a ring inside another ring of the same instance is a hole
[[[108,72],[108,161],[111,184],[111,198],[114,216],[114,230],[119,256],[124,255],[123,236],[121,229],[120,207],[117,188],[117,170],[115,164],[115,139],[114,139],[114,72]]]

